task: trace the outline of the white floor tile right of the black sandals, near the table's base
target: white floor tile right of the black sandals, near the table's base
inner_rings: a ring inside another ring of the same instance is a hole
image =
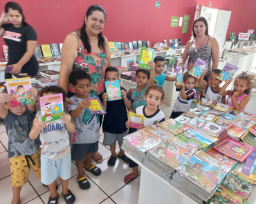
[[[109,196],[124,186],[125,175],[129,174],[130,168],[127,163],[117,159],[116,165],[110,167],[107,165],[107,159],[98,164],[102,170],[100,176],[94,176],[91,172],[86,174]]]

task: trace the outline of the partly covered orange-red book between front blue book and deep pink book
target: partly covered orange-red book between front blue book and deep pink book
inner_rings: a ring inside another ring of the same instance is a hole
[[[231,157],[222,154],[221,152],[215,150],[213,147],[210,147],[210,149],[207,150],[205,153],[209,154],[217,161],[221,161],[222,163],[226,164],[231,169],[234,168],[238,163],[238,161],[236,161],[235,159],[232,159]]]

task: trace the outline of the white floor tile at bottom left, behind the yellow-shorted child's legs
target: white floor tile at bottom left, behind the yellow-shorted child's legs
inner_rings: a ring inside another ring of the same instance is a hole
[[[36,197],[37,194],[30,183],[25,183],[21,189],[21,203],[27,203]],[[0,181],[0,198],[1,203],[11,203],[12,201],[12,185],[10,183],[10,176]]]

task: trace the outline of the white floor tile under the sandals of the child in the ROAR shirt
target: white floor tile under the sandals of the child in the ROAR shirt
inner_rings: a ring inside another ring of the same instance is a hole
[[[100,188],[91,181],[91,179],[87,178],[88,181],[91,183],[91,188],[89,190],[81,190],[78,186],[77,180],[75,177],[68,180],[68,189],[70,189],[73,194],[75,195],[75,203],[90,203],[90,204],[98,204],[104,199],[107,198],[107,195],[100,190]],[[59,186],[57,192],[60,194],[59,204],[66,204],[64,198],[62,197],[62,185]],[[44,203],[48,202],[48,197],[50,192],[46,192],[41,196]]]

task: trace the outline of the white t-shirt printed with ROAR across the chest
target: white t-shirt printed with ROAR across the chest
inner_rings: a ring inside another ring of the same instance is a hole
[[[46,123],[39,137],[42,145],[41,152],[47,159],[63,159],[71,153],[68,131],[62,120]]]

